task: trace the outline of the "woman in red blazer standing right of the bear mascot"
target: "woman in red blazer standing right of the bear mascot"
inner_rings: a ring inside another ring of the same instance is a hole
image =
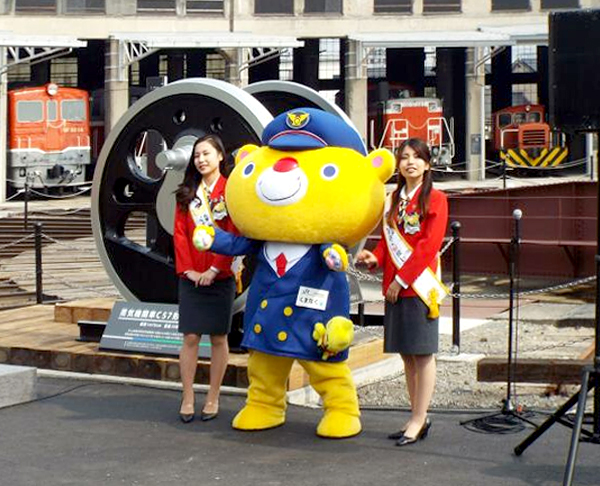
[[[383,268],[384,350],[400,353],[411,403],[408,422],[388,437],[404,446],[427,437],[431,427],[427,410],[435,387],[438,318],[437,302],[425,301],[435,288],[432,282],[439,284],[438,254],[446,233],[448,203],[432,187],[425,142],[406,140],[398,154],[398,187],[386,207],[381,241],[373,252],[359,253],[357,262]],[[420,278],[422,274],[427,278]]]

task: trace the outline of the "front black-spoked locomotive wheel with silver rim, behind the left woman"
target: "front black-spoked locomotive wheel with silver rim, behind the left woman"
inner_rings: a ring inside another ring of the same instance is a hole
[[[110,131],[94,172],[92,229],[125,299],[177,302],[173,191],[194,140],[216,133],[230,153],[260,144],[271,120],[256,98],[231,84],[186,79],[142,97]]]

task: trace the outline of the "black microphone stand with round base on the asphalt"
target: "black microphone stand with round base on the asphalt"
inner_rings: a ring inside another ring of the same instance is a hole
[[[510,250],[508,257],[508,277],[509,277],[509,300],[508,300],[508,362],[506,372],[506,397],[502,400],[502,409],[500,412],[486,415],[471,420],[461,422],[461,425],[467,428],[482,429],[489,432],[508,433],[520,432],[524,426],[522,422],[536,426],[532,422],[523,417],[512,399],[512,386],[514,382],[514,367],[513,363],[513,341],[514,341],[514,326],[518,319],[515,319],[515,307],[518,307],[518,279],[519,279],[519,250],[521,246],[521,218],[523,211],[515,209],[512,214],[514,220],[513,237],[510,241]],[[516,303],[516,306],[515,306]]]

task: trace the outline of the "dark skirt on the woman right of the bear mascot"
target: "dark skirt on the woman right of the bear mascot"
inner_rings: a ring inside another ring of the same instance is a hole
[[[429,319],[429,308],[419,297],[401,297],[385,303],[383,350],[385,353],[435,354],[439,319]]]

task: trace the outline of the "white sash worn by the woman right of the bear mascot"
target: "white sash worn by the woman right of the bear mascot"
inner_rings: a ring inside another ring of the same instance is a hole
[[[413,249],[404,239],[396,224],[390,226],[387,221],[387,215],[390,211],[390,199],[386,201],[386,211],[383,217],[383,235],[388,246],[389,254],[392,258],[394,266],[398,269],[402,268],[406,260],[412,255]],[[423,270],[421,275],[411,284],[415,293],[429,307],[429,317],[435,318],[439,316],[439,305],[450,292],[448,288],[441,282],[441,265],[438,258],[438,275],[436,275],[429,265]]]

